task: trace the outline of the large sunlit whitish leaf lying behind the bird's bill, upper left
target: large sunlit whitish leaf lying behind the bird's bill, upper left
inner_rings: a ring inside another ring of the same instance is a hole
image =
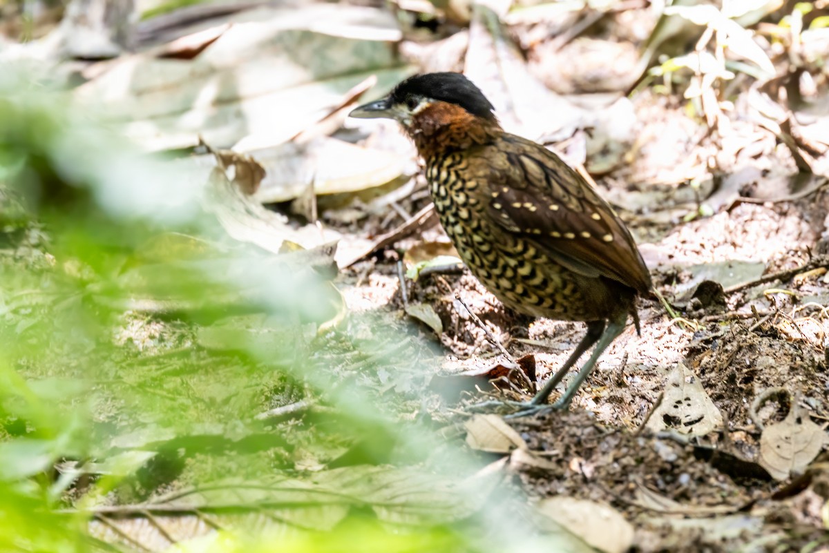
[[[371,75],[377,93],[408,75],[395,18],[370,7],[263,8],[233,23],[193,60],[125,56],[75,90],[148,150],[221,147],[248,135],[287,141],[342,106]]]

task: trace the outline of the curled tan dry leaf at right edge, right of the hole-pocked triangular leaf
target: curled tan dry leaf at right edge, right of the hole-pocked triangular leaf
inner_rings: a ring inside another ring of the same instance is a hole
[[[791,411],[782,422],[763,430],[758,463],[774,479],[785,480],[791,474],[802,474],[827,443],[826,432],[793,401]]]

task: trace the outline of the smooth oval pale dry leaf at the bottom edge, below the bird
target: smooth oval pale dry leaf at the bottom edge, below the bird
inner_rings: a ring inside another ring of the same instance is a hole
[[[541,515],[596,550],[624,553],[633,546],[633,526],[609,505],[560,496],[542,499],[537,507]]]

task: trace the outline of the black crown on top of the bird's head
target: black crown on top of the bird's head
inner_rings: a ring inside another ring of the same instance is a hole
[[[427,73],[414,75],[398,84],[391,93],[395,103],[404,103],[410,96],[422,96],[454,103],[478,117],[491,119],[495,109],[473,82],[460,73]]]

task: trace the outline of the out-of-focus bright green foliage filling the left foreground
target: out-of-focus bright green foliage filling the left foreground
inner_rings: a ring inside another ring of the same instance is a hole
[[[428,348],[368,321],[319,333],[339,298],[324,276],[224,236],[200,186],[42,81],[6,75],[0,120],[0,551],[136,549],[90,533],[100,509],[445,449],[428,419],[400,421],[397,400],[378,402],[380,382],[418,396],[425,376],[400,368],[429,373]],[[336,409],[258,416],[301,400]],[[456,460],[429,470],[469,466],[446,451]],[[313,490],[327,473],[294,485]],[[325,517],[282,506],[288,522],[271,516],[253,531],[235,518],[180,547],[265,551],[272,531],[280,551],[473,551],[457,525],[482,501],[455,508],[462,491],[419,478],[379,492],[343,483],[347,511],[328,531]],[[422,515],[396,530],[396,519],[366,517],[380,492]]]

